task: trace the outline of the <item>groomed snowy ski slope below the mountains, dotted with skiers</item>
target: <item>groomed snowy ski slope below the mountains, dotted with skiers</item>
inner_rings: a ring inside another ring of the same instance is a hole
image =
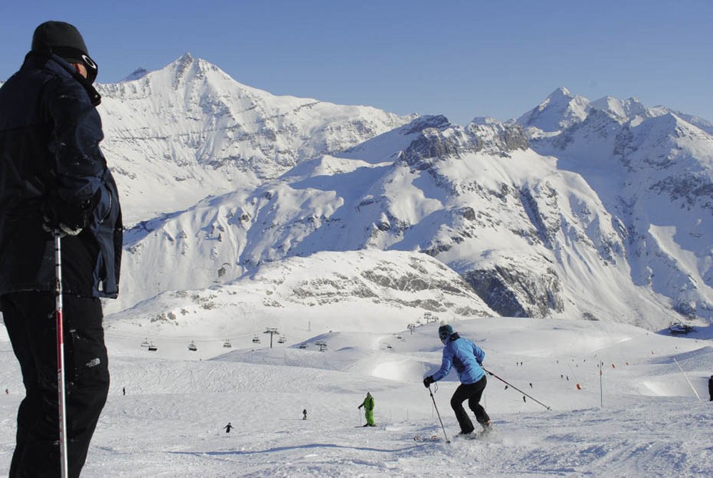
[[[366,320],[359,307],[342,307],[344,326],[330,331],[335,310],[313,309],[294,319],[284,342],[274,335],[272,348],[270,335],[253,333],[249,320],[226,337],[202,322],[160,334],[145,325],[150,337],[143,337],[126,320],[109,320],[112,387],[82,476],[713,474],[710,330],[678,337],[583,320],[453,321],[486,351],[486,368],[510,385],[488,376],[483,405],[497,434],[487,440],[455,437],[455,372],[432,385],[446,443],[421,384],[440,364],[438,323],[404,312]],[[232,347],[223,347],[226,340]],[[142,347],[146,341],[158,350]],[[198,350],[188,350],[192,341]],[[0,396],[6,474],[24,393],[3,327],[0,357],[0,385],[9,390]],[[373,428],[360,426],[357,405],[366,391],[376,399]],[[235,426],[230,433],[223,429],[228,422]],[[426,440],[416,442],[416,435]]]

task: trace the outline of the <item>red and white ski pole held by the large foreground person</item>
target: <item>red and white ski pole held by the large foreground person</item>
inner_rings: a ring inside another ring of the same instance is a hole
[[[59,415],[59,460],[61,477],[67,478],[67,420],[64,387],[64,325],[62,317],[62,251],[61,236],[58,229],[54,230],[54,270],[55,270],[55,318],[57,327],[57,390]]]

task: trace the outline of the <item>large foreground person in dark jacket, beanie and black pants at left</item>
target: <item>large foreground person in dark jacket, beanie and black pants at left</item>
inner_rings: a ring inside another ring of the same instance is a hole
[[[69,476],[106,402],[100,298],[118,295],[122,223],[93,88],[98,68],[71,24],[34,31],[0,88],[0,310],[26,395],[10,477],[58,477],[54,231],[61,235]]]

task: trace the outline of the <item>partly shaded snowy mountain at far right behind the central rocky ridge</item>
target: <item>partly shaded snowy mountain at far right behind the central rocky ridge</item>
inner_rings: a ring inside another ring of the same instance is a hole
[[[530,146],[580,175],[612,216],[636,285],[684,316],[712,317],[713,136],[702,118],[563,88],[550,116],[518,122]],[[586,111],[570,121],[571,111]],[[558,119],[560,118],[560,119]],[[553,124],[563,125],[551,131]]]

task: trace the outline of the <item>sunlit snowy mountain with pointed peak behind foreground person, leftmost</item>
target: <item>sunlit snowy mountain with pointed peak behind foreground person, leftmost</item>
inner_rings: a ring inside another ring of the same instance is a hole
[[[307,158],[342,151],[407,123],[367,106],[274,96],[185,54],[158,71],[97,86],[125,221],[254,188]]]

